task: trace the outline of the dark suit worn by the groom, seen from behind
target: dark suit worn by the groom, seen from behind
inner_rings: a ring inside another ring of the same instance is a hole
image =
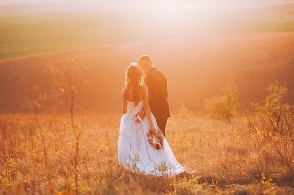
[[[165,136],[165,128],[170,115],[168,103],[167,77],[156,67],[149,69],[145,77],[145,85],[149,91],[149,106],[157,126]]]

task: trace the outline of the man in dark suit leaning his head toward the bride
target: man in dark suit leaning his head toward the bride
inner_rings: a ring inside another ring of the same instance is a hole
[[[168,118],[171,117],[168,103],[168,87],[167,78],[163,72],[158,70],[152,63],[149,56],[143,55],[139,58],[138,64],[145,73],[145,85],[149,91],[149,106],[154,115],[157,126],[165,135],[165,128]],[[140,116],[143,120],[145,117],[144,111],[137,113],[136,117]],[[139,122],[137,119],[136,122]]]

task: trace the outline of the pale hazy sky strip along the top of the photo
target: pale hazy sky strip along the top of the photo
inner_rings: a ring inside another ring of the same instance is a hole
[[[267,6],[276,3],[294,2],[294,0],[0,0],[0,4],[43,4],[78,2],[81,6],[91,7],[93,4],[106,9],[212,9],[212,10],[236,10]]]

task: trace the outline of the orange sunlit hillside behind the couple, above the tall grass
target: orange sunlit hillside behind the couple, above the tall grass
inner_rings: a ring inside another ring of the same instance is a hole
[[[205,99],[218,94],[230,76],[240,91],[240,110],[262,103],[275,81],[290,89],[285,101],[294,104],[294,33],[260,33],[155,39],[0,61],[0,111],[34,111],[33,101],[50,91],[47,67],[74,59],[88,67],[77,105],[89,112],[120,112],[124,71],[142,54],[166,73],[172,110],[182,103],[203,110]],[[67,110],[57,101],[50,104]]]

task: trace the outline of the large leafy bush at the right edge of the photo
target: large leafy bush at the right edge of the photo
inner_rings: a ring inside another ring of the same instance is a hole
[[[286,87],[279,87],[276,83],[270,85],[268,90],[270,96],[266,98],[264,106],[252,104],[258,117],[253,121],[249,118],[248,127],[260,147],[276,153],[293,175],[294,106],[282,103],[282,96],[288,91]]]

